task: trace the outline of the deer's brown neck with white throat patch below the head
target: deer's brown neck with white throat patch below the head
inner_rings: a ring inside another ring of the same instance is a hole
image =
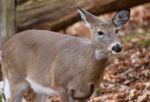
[[[107,61],[108,53],[97,49],[94,44],[90,44],[85,51],[85,58],[87,60],[86,80],[92,83],[98,83],[103,76]]]

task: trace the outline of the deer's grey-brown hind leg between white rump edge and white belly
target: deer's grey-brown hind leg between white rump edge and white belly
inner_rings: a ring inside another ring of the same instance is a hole
[[[10,102],[22,102],[24,93],[28,88],[29,88],[29,84],[26,81],[22,81],[18,84],[11,84]]]

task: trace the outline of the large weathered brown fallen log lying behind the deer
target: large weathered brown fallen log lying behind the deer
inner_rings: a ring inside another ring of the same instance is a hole
[[[150,0],[37,0],[17,7],[17,27],[57,31],[80,20],[77,7],[100,15],[148,2]]]

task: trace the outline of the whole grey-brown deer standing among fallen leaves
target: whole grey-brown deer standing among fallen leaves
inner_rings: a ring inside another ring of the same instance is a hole
[[[99,86],[111,55],[122,51],[118,29],[130,17],[130,9],[117,12],[111,20],[100,20],[79,8],[91,38],[79,38],[48,30],[26,30],[3,46],[1,64],[7,102],[22,102],[32,88],[45,102],[59,95],[61,102],[87,102]]]

